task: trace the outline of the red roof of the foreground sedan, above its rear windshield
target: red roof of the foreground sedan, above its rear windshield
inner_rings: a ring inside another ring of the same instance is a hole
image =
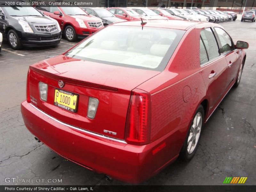
[[[171,28],[171,29],[181,29],[188,30],[188,28],[203,24],[201,21],[188,21],[188,20],[143,20],[147,22],[144,26],[146,27],[157,27],[157,28]],[[141,20],[125,21],[114,23],[115,26],[141,26]]]

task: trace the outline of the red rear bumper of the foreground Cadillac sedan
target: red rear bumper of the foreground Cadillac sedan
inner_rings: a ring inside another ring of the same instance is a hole
[[[27,101],[21,103],[21,113],[28,130],[60,156],[118,180],[140,183],[178,157],[178,154],[170,156],[168,147],[152,153],[163,142],[172,141],[170,137],[160,138],[148,145],[134,146],[123,140],[110,140],[79,128],[74,129]]]

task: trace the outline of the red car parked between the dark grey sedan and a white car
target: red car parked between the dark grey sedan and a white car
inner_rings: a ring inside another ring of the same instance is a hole
[[[116,17],[119,17],[121,19],[125,19],[125,20],[140,20],[141,15],[138,14],[137,12],[133,11],[132,9],[127,9],[127,8],[115,8],[115,7],[111,7],[107,9],[108,11],[110,11],[111,13],[115,14]]]

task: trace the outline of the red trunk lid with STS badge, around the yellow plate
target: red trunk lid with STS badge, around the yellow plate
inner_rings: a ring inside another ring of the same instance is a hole
[[[131,91],[159,73],[60,55],[30,66],[28,90],[31,102],[48,115],[84,130],[123,140]],[[62,88],[59,81],[64,83]],[[48,84],[47,101],[40,99],[39,82]],[[56,90],[78,95],[76,112],[54,105]],[[87,117],[90,97],[99,101],[93,119]]]

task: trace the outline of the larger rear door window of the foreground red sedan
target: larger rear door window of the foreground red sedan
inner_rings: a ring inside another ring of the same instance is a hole
[[[213,35],[211,28],[203,29],[200,32],[200,36],[204,42],[206,51],[209,56],[209,60],[212,60],[220,55],[219,47],[216,42],[215,36]]]

